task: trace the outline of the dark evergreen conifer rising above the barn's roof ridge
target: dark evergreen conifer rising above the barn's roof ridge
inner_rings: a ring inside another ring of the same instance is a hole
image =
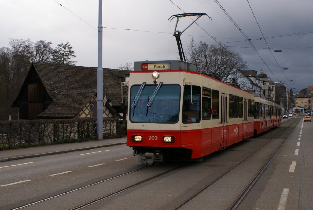
[[[75,58],[73,47],[67,41],[66,44],[58,44],[53,50],[51,62],[57,64],[75,65],[77,61],[71,61],[71,58]]]

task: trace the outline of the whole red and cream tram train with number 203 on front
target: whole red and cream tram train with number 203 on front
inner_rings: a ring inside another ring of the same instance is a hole
[[[138,163],[203,156],[280,125],[280,105],[183,61],[135,62],[127,146]]]

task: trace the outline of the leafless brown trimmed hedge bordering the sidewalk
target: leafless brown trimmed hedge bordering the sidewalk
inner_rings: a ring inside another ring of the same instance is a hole
[[[0,121],[0,150],[97,138],[96,118]],[[103,119],[103,138],[126,136],[126,121]]]

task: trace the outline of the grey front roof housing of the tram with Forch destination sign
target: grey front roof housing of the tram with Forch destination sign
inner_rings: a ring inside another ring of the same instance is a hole
[[[134,64],[135,71],[149,70],[187,70],[197,72],[196,65],[180,60],[174,61],[136,61]]]

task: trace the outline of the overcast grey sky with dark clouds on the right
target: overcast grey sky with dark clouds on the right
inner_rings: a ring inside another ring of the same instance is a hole
[[[98,0],[1,0],[0,47],[9,47],[10,38],[51,41],[53,48],[68,40],[76,65],[97,67],[98,8]],[[313,86],[312,8],[313,0],[103,0],[103,67],[176,60],[172,36],[176,21],[167,20],[174,14],[207,13],[212,20],[203,16],[197,21],[203,29],[193,24],[183,33],[185,52],[192,36],[197,42],[224,43],[243,57],[249,69],[262,69],[287,88],[294,85],[296,92]],[[190,23],[191,19],[182,18],[177,29],[182,31]]]

